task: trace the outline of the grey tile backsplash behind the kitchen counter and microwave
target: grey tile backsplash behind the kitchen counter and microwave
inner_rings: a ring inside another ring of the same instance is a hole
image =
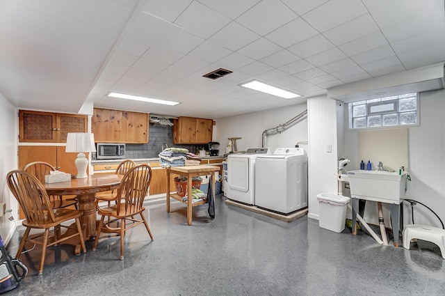
[[[167,144],[168,147],[187,148],[192,153],[197,153],[197,150],[202,145],[175,145],[173,143],[173,127],[169,125],[155,125],[149,124],[148,143],[145,144],[126,144],[125,158],[127,159],[141,159],[158,157],[162,151],[162,145]],[[92,155],[95,159],[95,153]]]

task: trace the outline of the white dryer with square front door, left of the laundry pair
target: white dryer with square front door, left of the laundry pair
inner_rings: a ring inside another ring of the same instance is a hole
[[[232,201],[254,205],[255,160],[266,155],[267,148],[250,148],[245,153],[227,156],[227,198]]]

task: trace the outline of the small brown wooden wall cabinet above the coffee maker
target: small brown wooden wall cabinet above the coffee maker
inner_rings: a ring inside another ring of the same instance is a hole
[[[175,144],[207,144],[212,141],[213,120],[180,116],[174,120]]]

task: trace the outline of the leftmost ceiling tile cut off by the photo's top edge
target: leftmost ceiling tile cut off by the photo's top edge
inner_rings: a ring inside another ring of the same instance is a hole
[[[184,9],[192,3],[193,0],[148,0],[144,11],[152,13],[164,20],[175,22],[177,17],[181,15]]]

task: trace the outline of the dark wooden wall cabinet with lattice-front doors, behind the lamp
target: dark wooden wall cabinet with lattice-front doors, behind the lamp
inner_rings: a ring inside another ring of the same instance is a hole
[[[20,142],[65,143],[68,132],[87,130],[86,115],[19,110]]]

